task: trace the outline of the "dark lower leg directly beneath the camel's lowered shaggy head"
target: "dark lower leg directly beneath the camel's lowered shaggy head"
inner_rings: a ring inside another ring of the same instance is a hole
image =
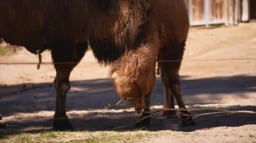
[[[150,120],[151,120],[151,115],[150,115],[150,97],[151,93],[147,94],[145,97],[145,107],[143,109],[143,113],[140,117],[140,120],[137,124],[135,124],[135,128],[146,128],[150,126]]]

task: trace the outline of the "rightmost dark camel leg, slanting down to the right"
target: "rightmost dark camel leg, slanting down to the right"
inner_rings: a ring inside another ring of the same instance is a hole
[[[170,46],[166,46],[160,49],[160,68],[162,69],[162,73],[166,78],[166,82],[168,84],[168,89],[170,94],[172,94],[179,108],[181,109],[181,118],[183,119],[183,125],[192,125],[193,119],[191,114],[187,111],[183,99],[181,97],[180,91],[180,81],[179,81],[179,68],[181,66],[181,60],[183,58],[185,43],[181,43],[178,41],[173,41]],[[170,95],[171,97],[171,95]],[[170,107],[174,107],[173,99],[170,98]]]

